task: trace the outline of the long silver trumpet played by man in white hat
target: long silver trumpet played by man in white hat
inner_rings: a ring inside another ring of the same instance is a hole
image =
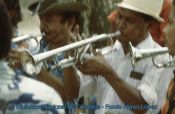
[[[22,67],[24,69],[24,71],[29,74],[29,75],[37,75],[40,70],[41,70],[41,66],[42,66],[42,61],[53,57],[55,55],[61,55],[61,53],[64,53],[66,51],[69,51],[71,49],[76,49],[78,47],[87,45],[87,44],[91,44],[94,42],[97,42],[99,40],[105,40],[107,38],[112,38],[112,37],[117,37],[120,36],[120,32],[114,32],[111,34],[100,34],[100,35],[96,35],[96,36],[92,36],[90,38],[87,38],[85,40],[81,40],[75,43],[71,43],[69,45],[60,47],[60,48],[56,48],[44,53],[40,53],[37,55],[32,55],[29,51],[25,51],[22,54],[21,57],[21,63],[22,63]],[[73,65],[73,63],[75,62],[76,57],[69,57],[67,59],[64,59],[62,61],[60,61],[56,67],[61,67],[61,68],[65,68],[68,67],[70,65]]]

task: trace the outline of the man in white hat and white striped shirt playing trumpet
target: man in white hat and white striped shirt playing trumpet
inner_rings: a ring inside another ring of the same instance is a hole
[[[131,42],[138,48],[160,48],[153,41],[149,28],[155,21],[163,21],[159,17],[162,4],[163,0],[123,0],[117,4],[117,25],[122,35],[119,42],[116,42],[117,50],[104,57],[98,54],[85,60],[83,64],[77,64],[77,68],[88,75],[78,71],[80,80],[77,86],[80,88],[79,91],[77,88],[74,91],[81,96],[88,92],[89,86],[96,83],[97,104],[105,107],[97,109],[97,114],[159,112],[172,72],[156,68],[150,58],[138,61],[132,68],[128,43]],[[112,108],[116,105],[121,108]]]

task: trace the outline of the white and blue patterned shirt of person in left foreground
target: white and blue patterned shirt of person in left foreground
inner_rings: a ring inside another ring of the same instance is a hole
[[[55,106],[55,107],[54,107]],[[46,84],[15,76],[0,61],[0,114],[65,114],[60,96]]]

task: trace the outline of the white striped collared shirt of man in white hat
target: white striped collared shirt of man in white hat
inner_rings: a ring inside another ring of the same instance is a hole
[[[156,105],[157,109],[148,110],[148,114],[156,114],[159,112],[163,99],[166,96],[168,84],[172,78],[172,69],[156,68],[151,58],[140,60],[132,67],[131,57],[129,54],[124,54],[122,45],[116,41],[116,50],[105,55],[105,59],[111,65],[114,71],[130,86],[137,88],[140,91],[142,98],[148,105]],[[160,48],[160,46],[152,40],[149,35],[144,41],[139,43],[137,48]],[[165,60],[164,56],[158,57],[157,61]],[[137,78],[132,77],[132,73],[140,75]],[[96,80],[88,76],[83,76],[78,71],[80,76],[80,96],[86,94],[87,89],[91,89],[94,84],[97,84],[97,104],[101,106],[96,110],[96,114],[132,114],[131,110],[126,109],[126,105],[121,101],[118,94],[114,91],[111,85],[102,77],[98,76]],[[123,90],[125,91],[125,90]],[[129,96],[128,96],[129,97]],[[105,106],[119,105],[121,109],[105,109]],[[125,109],[124,109],[125,108]]]

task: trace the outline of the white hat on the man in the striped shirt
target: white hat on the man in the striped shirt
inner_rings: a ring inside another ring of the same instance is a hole
[[[159,22],[163,22],[159,14],[163,6],[163,0],[123,0],[118,7],[149,15]]]

